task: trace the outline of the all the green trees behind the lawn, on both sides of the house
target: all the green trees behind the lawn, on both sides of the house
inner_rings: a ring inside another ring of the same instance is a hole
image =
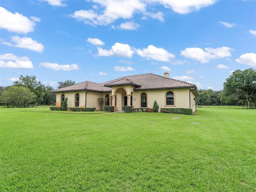
[[[58,88],[75,84],[72,80],[58,82]],[[36,76],[20,76],[12,86],[0,87],[0,102],[7,107],[36,105],[55,105],[56,95],[51,86],[44,86]],[[223,84],[223,90],[198,90],[198,105],[236,105],[247,108],[256,107],[256,69],[236,70]]]

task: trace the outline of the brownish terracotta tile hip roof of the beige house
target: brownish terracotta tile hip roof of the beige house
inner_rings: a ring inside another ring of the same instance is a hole
[[[135,90],[154,90],[154,89],[177,89],[177,88],[196,88],[195,84],[185,81],[175,80],[152,73],[132,75],[115,80],[111,80],[102,84],[90,81],[74,84],[72,86],[56,89],[52,92],[71,92],[71,91],[95,91],[95,92],[111,92],[112,86],[133,85]]]

